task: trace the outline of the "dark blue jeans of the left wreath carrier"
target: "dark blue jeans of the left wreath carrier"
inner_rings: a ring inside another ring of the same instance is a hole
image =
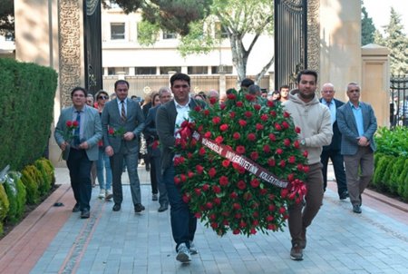
[[[194,240],[197,229],[197,218],[189,210],[189,205],[182,200],[181,190],[174,183],[174,167],[163,172],[163,182],[166,185],[167,195],[170,201],[171,232],[176,242],[176,251],[180,243],[185,243],[189,248],[189,241]]]

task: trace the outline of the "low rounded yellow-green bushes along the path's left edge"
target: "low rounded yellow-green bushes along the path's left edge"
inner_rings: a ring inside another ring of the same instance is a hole
[[[0,235],[5,222],[15,224],[22,219],[26,204],[37,204],[55,182],[53,164],[39,159],[23,171],[9,171],[0,183]]]

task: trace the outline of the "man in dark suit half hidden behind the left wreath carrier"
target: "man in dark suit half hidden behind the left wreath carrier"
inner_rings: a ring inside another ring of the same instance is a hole
[[[153,96],[153,100],[154,98],[156,97]],[[169,208],[169,198],[167,196],[166,186],[164,185],[163,180],[161,178],[161,166],[160,166],[161,153],[158,144],[159,135],[157,134],[156,129],[156,116],[160,104],[168,103],[171,100],[171,91],[169,87],[160,88],[159,99],[160,103],[158,105],[155,105],[149,110],[143,134],[146,138],[146,142],[148,143],[149,152],[148,154],[151,157],[151,185],[153,186],[153,182],[156,181],[157,189],[159,190],[160,194],[159,196],[160,208],[158,211],[163,212],[165,210],[168,210]]]

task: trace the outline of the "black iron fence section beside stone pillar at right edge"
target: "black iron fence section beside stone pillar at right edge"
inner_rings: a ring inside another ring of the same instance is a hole
[[[390,81],[390,124],[408,125],[408,75],[392,75]]]

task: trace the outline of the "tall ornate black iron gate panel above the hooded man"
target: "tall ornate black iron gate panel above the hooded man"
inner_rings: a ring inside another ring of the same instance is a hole
[[[275,87],[296,85],[307,68],[307,1],[275,0]]]

